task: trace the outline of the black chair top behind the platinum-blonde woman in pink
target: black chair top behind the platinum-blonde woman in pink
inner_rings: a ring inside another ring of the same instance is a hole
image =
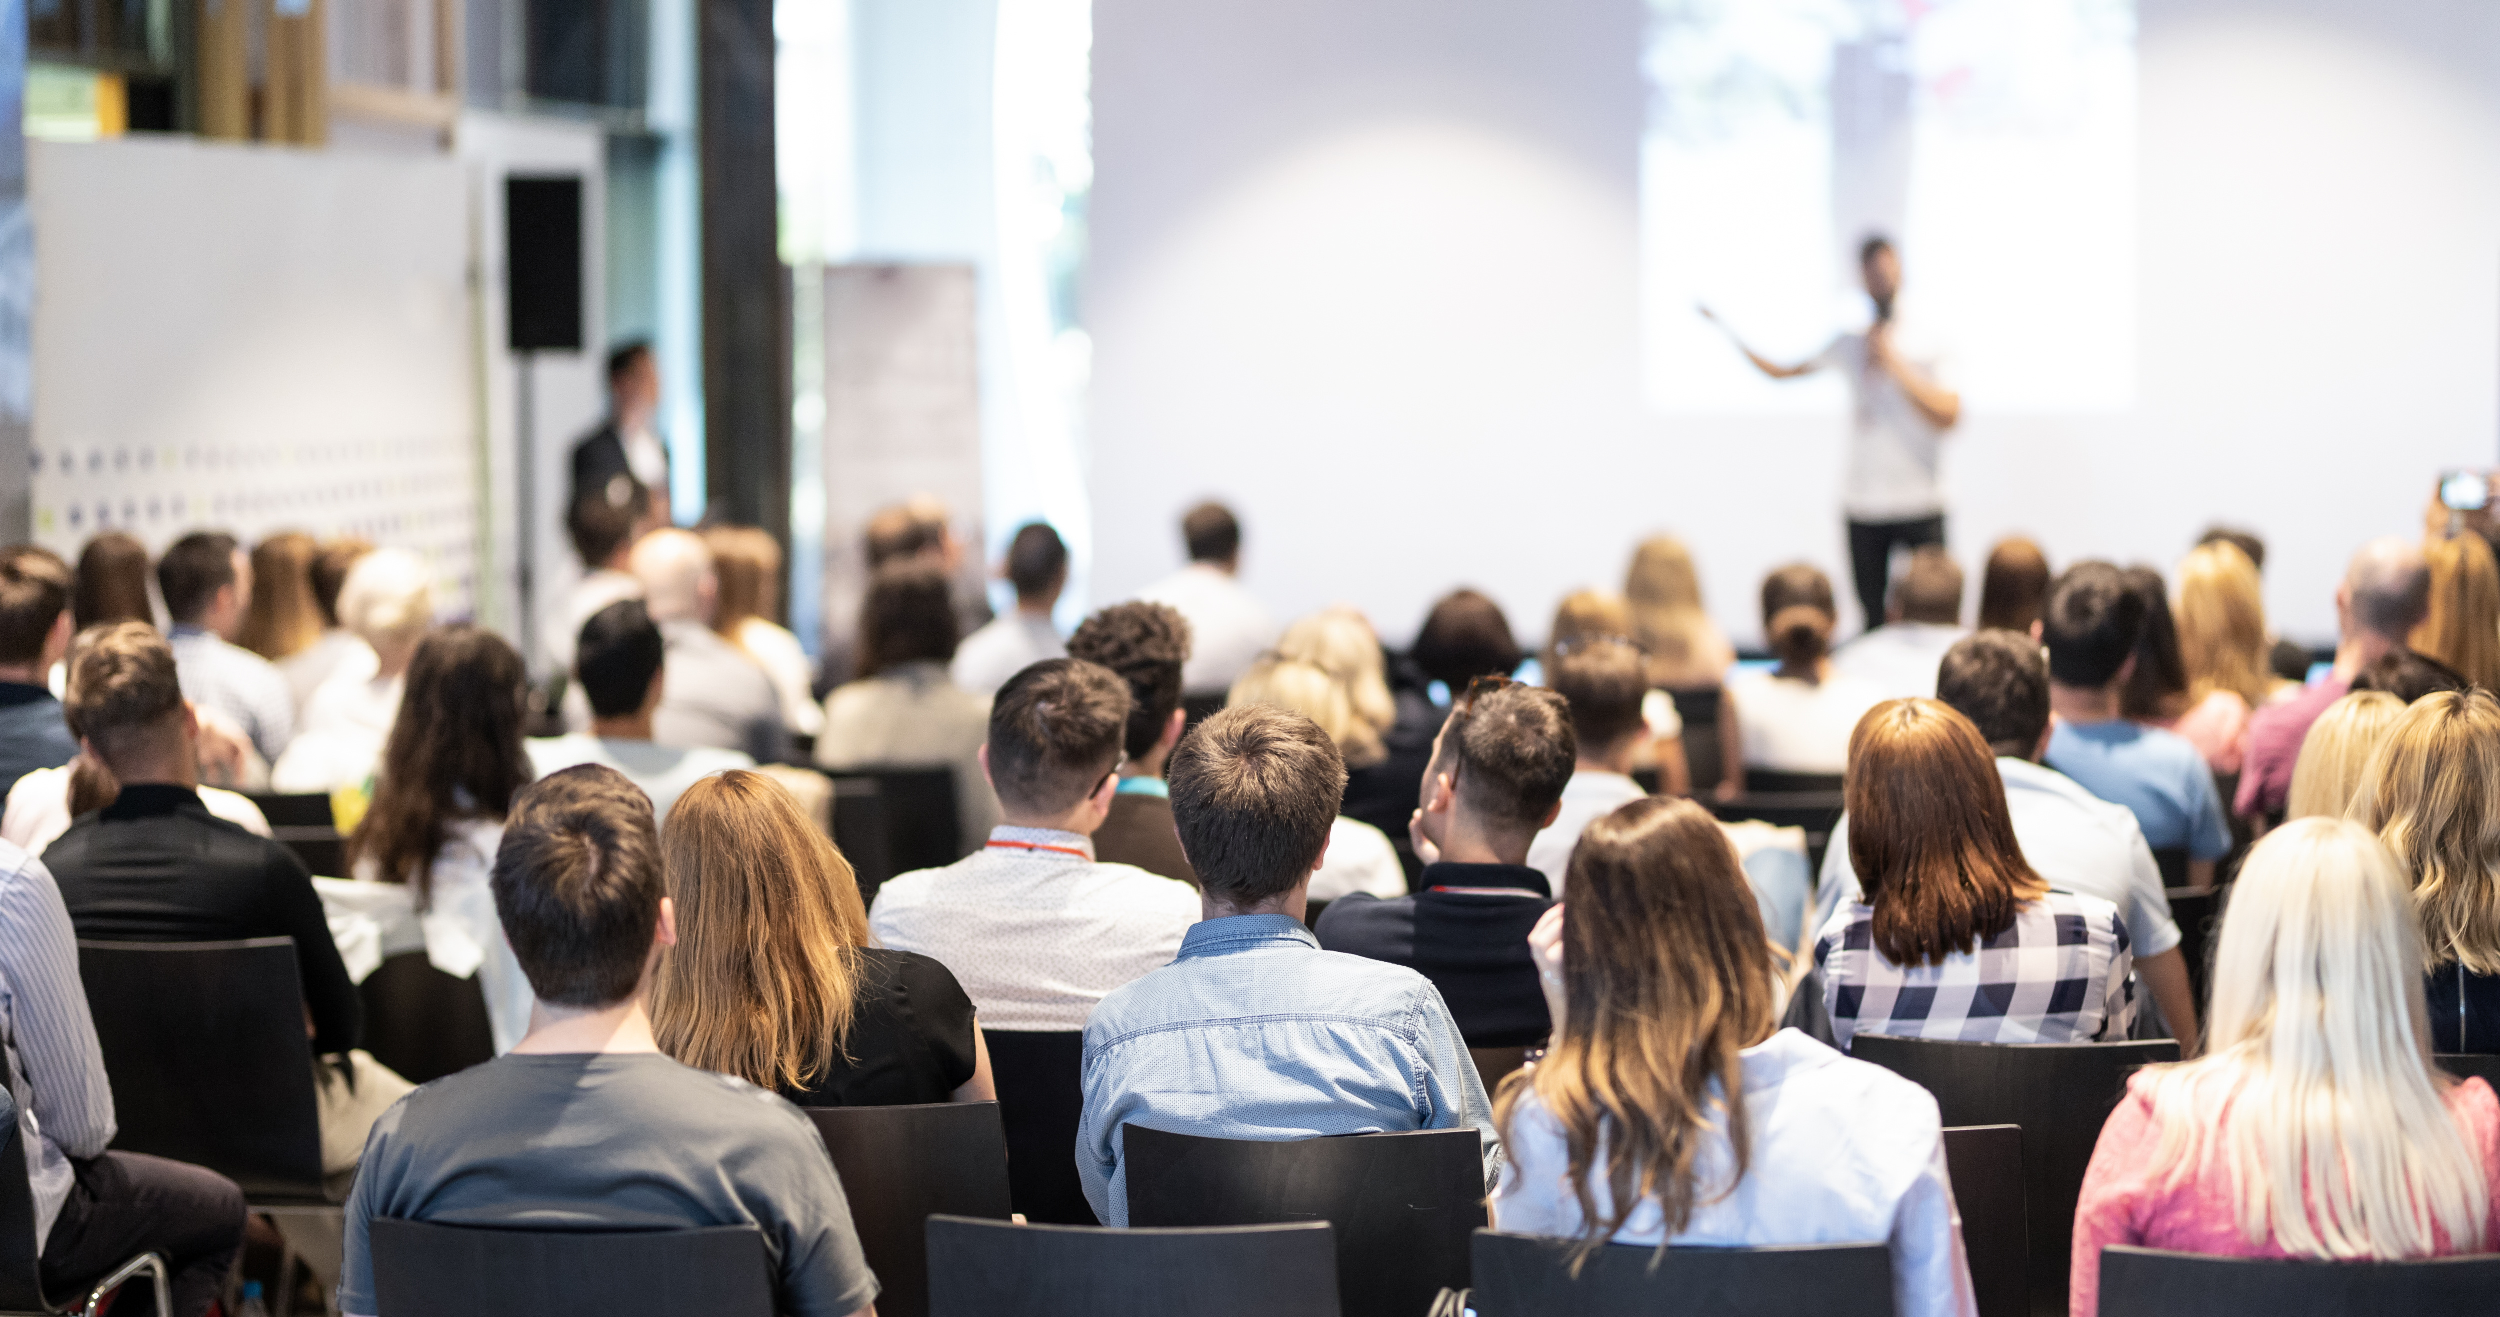
[[[2100,1250],[2100,1317],[2340,1317],[2500,1312],[2500,1257],[2275,1262],[2112,1245]]]

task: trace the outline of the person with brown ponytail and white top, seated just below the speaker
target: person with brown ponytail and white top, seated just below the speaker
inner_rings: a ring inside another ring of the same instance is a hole
[[[1832,670],[1838,625],[1822,570],[1792,562],[1762,582],[1762,635],[1780,667],[1728,680],[1748,770],[1838,777],[1848,767],[1850,730],[1882,690]]]

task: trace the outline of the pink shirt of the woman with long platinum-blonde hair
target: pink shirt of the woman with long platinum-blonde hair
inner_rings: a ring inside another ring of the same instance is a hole
[[[2072,1317],[2100,1312],[2100,1250],[2105,1245],[2210,1257],[2290,1257],[2272,1240],[2250,1245],[2248,1235],[2240,1235],[2225,1165],[2212,1162],[2202,1175],[2192,1175],[2178,1187],[2162,1185],[2168,1172],[2150,1175],[2162,1130],[2152,1120],[2152,1097],[2148,1095],[2145,1075],[2128,1082],[2128,1097],[2102,1125],[2100,1147],[2092,1150],[2092,1170],[2082,1177],[2082,1200],[2075,1205],[2075,1272],[2068,1287]],[[2482,1080],[2465,1080],[2448,1090],[2448,1115],[2458,1120],[2465,1145],[2482,1160],[2482,1182],[2500,1187],[2500,1097],[2492,1097]],[[2500,1227],[2500,1212],[2495,1212],[2492,1225]],[[2438,1252],[2492,1252],[2492,1230],[2488,1227],[2485,1235],[2468,1247],[2442,1237]]]

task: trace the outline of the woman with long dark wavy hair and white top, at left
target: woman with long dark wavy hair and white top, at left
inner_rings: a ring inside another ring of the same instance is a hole
[[[370,965],[425,952],[435,970],[475,977],[495,1052],[530,1032],[530,982],[502,940],[490,875],[512,797],[530,785],[520,652],[500,635],[450,625],[408,662],[402,717],[375,772],[372,805],[348,835],[355,885],[322,885],[330,927],[370,925]],[[340,935],[350,945],[350,935]]]

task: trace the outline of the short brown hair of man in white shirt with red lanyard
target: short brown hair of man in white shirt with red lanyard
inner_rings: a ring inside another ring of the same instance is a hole
[[[1085,660],[1042,660],[990,702],[990,785],[1018,810],[1055,815],[1120,767],[1128,682]]]

